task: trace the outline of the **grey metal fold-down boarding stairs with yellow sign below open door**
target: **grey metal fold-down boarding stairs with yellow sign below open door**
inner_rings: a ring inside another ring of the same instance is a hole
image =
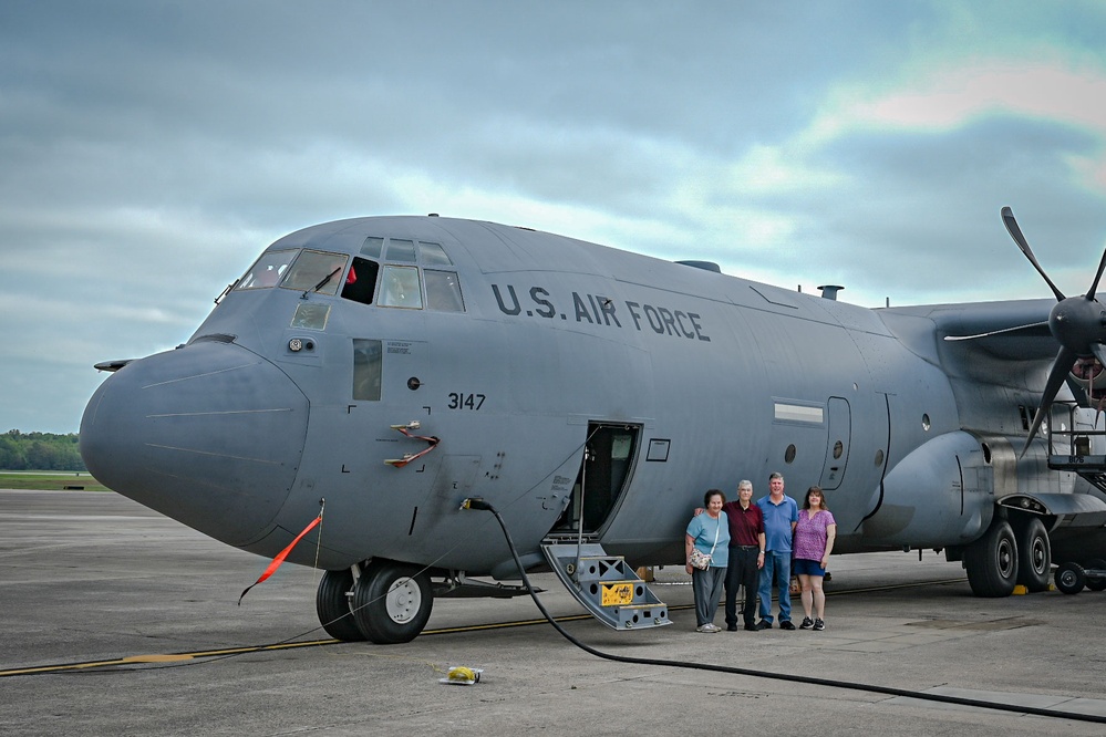
[[[569,593],[612,630],[641,630],[672,624],[669,608],[621,556],[598,543],[541,546],[549,568]]]

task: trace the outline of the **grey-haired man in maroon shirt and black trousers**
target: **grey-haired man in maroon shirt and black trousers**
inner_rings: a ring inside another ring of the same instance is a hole
[[[756,632],[756,590],[764,567],[764,515],[753,504],[753,482],[737,485],[737,500],[722,506],[730,519],[730,567],[726,570],[726,630],[737,630],[737,587],[745,587],[742,617]]]

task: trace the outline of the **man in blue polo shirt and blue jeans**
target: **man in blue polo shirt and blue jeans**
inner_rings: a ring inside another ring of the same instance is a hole
[[[756,501],[764,515],[766,554],[761,570],[761,621],[757,630],[772,629],[772,581],[779,590],[779,629],[794,630],[792,623],[792,536],[798,522],[798,502],[784,495],[783,474],[768,477],[768,496]]]

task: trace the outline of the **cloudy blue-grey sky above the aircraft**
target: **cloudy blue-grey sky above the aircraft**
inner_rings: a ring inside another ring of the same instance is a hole
[[[0,432],[343,217],[525,225],[879,307],[1083,293],[1106,4],[0,2]]]

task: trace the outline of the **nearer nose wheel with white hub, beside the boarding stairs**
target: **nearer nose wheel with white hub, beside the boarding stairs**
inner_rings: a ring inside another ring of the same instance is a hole
[[[415,565],[374,560],[353,590],[353,617],[378,645],[414,640],[430,620],[434,594],[430,578]]]

